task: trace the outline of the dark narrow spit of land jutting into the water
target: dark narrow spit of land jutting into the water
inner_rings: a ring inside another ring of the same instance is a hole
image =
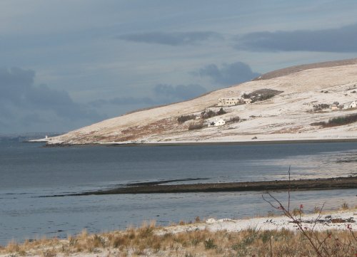
[[[154,183],[93,192],[82,192],[77,194],[61,194],[41,197],[89,196],[104,194],[172,194],[197,192],[281,192],[332,189],[357,189],[357,176],[336,177],[328,179],[298,179],[291,181],[273,180],[261,182],[228,182],[178,185],[163,185]]]

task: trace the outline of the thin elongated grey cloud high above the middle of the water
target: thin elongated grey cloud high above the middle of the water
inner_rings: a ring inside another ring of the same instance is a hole
[[[133,41],[138,43],[158,43],[168,46],[186,46],[193,45],[200,41],[206,41],[211,38],[222,38],[221,34],[212,31],[194,31],[194,32],[148,32],[132,33],[118,37],[121,40]]]

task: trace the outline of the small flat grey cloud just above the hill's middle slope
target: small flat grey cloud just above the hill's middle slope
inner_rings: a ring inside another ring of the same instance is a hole
[[[154,93],[159,97],[171,100],[188,100],[206,93],[206,88],[201,85],[164,85],[159,84],[154,88]]]

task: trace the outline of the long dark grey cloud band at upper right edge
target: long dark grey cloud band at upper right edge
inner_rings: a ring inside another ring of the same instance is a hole
[[[261,31],[236,38],[235,48],[249,51],[357,51],[357,24],[316,31]]]

